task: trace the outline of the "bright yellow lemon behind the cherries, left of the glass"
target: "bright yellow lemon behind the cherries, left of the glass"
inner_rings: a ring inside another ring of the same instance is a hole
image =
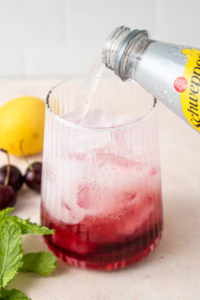
[[[13,99],[0,107],[0,148],[21,155],[42,151],[45,102],[32,96]]]

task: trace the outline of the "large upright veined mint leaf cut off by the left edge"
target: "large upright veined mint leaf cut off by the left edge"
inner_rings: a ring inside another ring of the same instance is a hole
[[[0,282],[4,287],[22,266],[23,247],[18,224],[5,219],[0,225]]]

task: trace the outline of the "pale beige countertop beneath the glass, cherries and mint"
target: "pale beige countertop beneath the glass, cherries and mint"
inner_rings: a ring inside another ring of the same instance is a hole
[[[0,80],[0,105],[25,94],[45,98],[59,81]],[[21,289],[32,300],[200,299],[200,135],[160,103],[158,119],[164,232],[154,252],[112,272],[79,269],[58,259],[52,275],[19,273],[8,288]],[[0,166],[5,162],[1,153]],[[26,169],[21,158],[12,156],[11,163]],[[15,214],[39,223],[40,196],[24,186]],[[25,235],[23,246],[25,253],[48,250],[40,236]]]

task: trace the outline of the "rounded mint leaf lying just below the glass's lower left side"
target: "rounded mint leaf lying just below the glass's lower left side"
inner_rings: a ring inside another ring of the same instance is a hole
[[[55,270],[56,265],[57,261],[52,253],[46,251],[27,253],[23,256],[23,265],[19,271],[34,272],[46,276]]]

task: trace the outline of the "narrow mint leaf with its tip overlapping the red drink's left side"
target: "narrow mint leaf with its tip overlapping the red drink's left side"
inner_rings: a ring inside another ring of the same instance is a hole
[[[36,223],[31,223],[29,220],[23,220],[20,217],[9,216],[6,220],[12,220],[17,223],[22,231],[22,234],[32,233],[32,234],[54,234],[54,229],[49,229],[45,226],[37,225]]]

